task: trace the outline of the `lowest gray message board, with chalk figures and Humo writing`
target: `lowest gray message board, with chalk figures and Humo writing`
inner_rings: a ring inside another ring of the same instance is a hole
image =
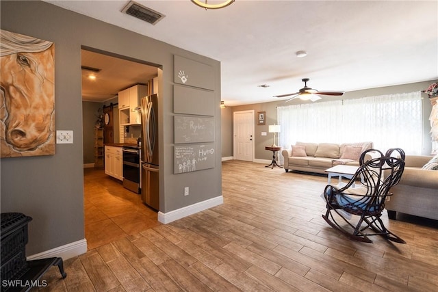
[[[214,168],[214,144],[187,144],[175,146],[174,174]]]

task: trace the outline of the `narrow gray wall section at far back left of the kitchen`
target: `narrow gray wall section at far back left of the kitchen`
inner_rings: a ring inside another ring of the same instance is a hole
[[[94,163],[94,124],[103,103],[82,102],[83,163]]]

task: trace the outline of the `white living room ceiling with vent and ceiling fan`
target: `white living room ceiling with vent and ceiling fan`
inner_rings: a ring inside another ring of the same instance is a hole
[[[305,77],[347,92],[438,79],[438,1],[136,1],[166,15],[156,25],[120,12],[128,0],[47,2],[220,61],[227,105],[278,101]]]

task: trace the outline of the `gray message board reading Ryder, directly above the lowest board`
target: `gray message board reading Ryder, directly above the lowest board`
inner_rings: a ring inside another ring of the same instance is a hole
[[[174,117],[175,144],[214,142],[214,118]]]

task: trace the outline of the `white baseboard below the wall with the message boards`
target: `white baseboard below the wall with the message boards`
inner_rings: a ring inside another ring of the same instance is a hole
[[[211,198],[203,202],[197,202],[196,204],[192,204],[190,206],[183,207],[181,209],[177,209],[167,213],[158,212],[158,221],[162,222],[163,224],[168,224],[183,217],[187,217],[188,215],[204,211],[223,203],[224,197],[218,196],[216,198]]]

